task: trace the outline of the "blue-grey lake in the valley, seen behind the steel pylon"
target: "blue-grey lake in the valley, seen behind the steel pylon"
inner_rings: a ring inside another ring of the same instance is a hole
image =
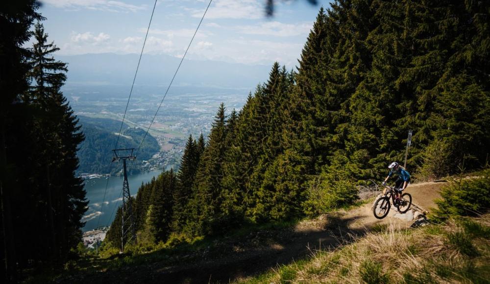
[[[153,177],[158,176],[162,171],[155,170],[141,174],[128,176],[129,192],[136,195],[141,183],[149,182]],[[87,200],[89,200],[88,210],[82,221],[85,221],[85,227],[82,231],[90,231],[97,227],[111,225],[115,208],[121,206],[123,196],[123,177],[111,176],[107,185],[107,192],[104,200],[104,190],[107,183],[106,178],[94,178],[85,180],[85,190],[87,191]],[[103,203],[102,203],[103,202]],[[98,220],[100,216],[100,221]]]

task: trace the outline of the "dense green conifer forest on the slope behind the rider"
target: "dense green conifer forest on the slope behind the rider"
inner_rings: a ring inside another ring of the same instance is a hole
[[[134,200],[143,243],[217,234],[356,201],[403,161],[435,178],[488,163],[488,1],[338,0],[320,9],[297,71],[275,63],[240,112],[221,105],[177,173]],[[108,233],[119,247],[120,214]]]

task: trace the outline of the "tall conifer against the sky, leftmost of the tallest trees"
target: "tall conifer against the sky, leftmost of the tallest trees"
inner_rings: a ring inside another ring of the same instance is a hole
[[[305,157],[307,162],[305,169],[308,174],[315,172],[316,164],[324,163],[322,156],[328,153],[323,137],[331,121],[323,118],[324,115],[329,115],[325,110],[336,111],[322,103],[327,98],[327,82],[332,80],[326,73],[327,66],[331,61],[330,58],[335,56],[335,54],[326,52],[325,45],[328,40],[336,40],[329,38],[333,34],[329,31],[338,30],[336,26],[330,27],[331,30],[329,30],[326,19],[325,11],[321,7],[301,52],[301,59],[298,61],[297,88],[293,92],[294,120],[290,128],[296,134],[293,136],[294,141],[289,143],[297,147],[300,155]],[[336,45],[337,43],[330,44]]]

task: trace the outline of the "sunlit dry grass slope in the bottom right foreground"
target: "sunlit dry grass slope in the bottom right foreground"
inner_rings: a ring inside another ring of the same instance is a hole
[[[490,216],[355,238],[248,283],[490,283]]]

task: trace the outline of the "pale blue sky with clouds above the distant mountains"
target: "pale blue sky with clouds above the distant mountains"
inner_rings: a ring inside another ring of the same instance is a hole
[[[42,0],[49,41],[60,55],[139,53],[153,0]],[[265,17],[266,0],[213,0],[186,55],[189,59],[293,67],[318,14],[306,0],[276,0]],[[182,56],[208,0],[158,0],[146,53]]]

